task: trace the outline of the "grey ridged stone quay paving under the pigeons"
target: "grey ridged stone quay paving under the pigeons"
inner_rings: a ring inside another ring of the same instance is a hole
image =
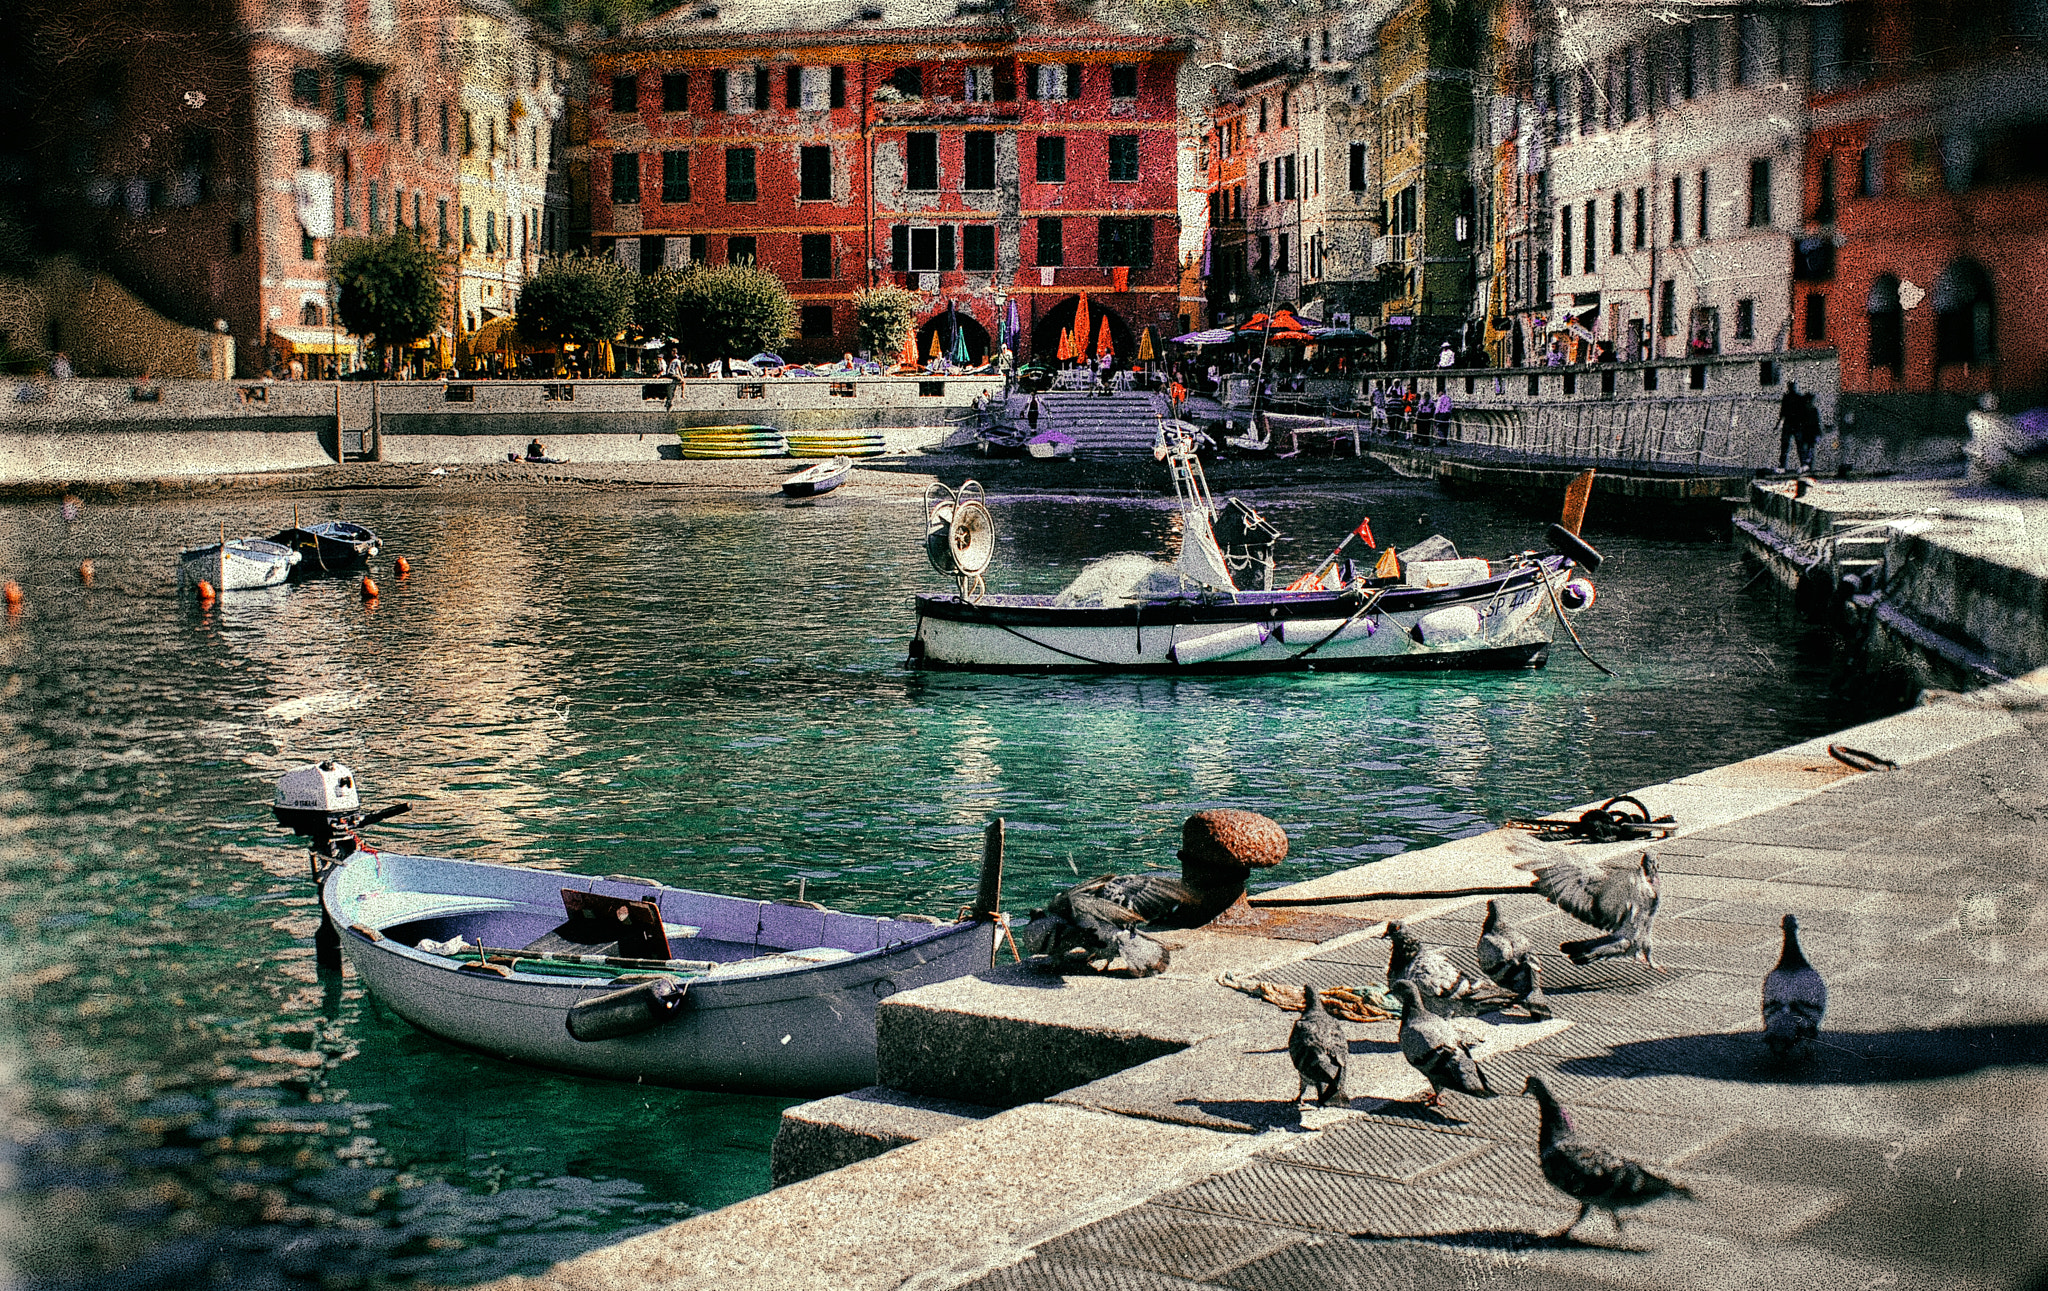
[[[1434,1113],[1372,1096],[1397,1076],[1391,1029],[1350,1025],[1354,1072],[1366,1074],[1354,1094],[1366,1096],[1296,1113],[1284,1055],[1257,1053],[1284,1045],[1284,1023],[1063,1094],[1262,1129],[1266,1146],[965,1285],[2044,1285],[2048,713],[2011,717],[2003,736],[1657,846],[1665,971],[1544,955],[1556,1014],[1575,1025],[1491,1057],[1499,1098],[1448,1094]],[[1538,949],[1583,934],[1544,902],[1505,906]],[[1757,994],[1788,910],[1831,996],[1812,1061],[1778,1066],[1757,1035]],[[1464,908],[1417,930],[1462,957],[1479,916]],[[1352,941],[1274,975],[1382,973],[1384,943]],[[1542,1178],[1534,1100],[1505,1092],[1532,1072],[1581,1133],[1698,1199],[1645,1207],[1624,1232],[1595,1215],[1561,1236],[1577,1207]]]

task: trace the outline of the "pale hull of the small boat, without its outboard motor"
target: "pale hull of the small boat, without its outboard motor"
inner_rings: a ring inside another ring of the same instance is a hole
[[[684,1006],[668,1021],[602,1041],[571,1037],[567,1014],[571,1004],[616,990],[616,982],[575,982],[537,971],[500,977],[461,969],[453,959],[410,945],[465,928],[496,945],[498,936],[553,926],[563,918],[563,887],[655,900],[664,920],[700,922],[700,939],[672,943],[678,957],[713,945],[725,951],[711,957],[729,955],[741,945],[733,936],[760,936],[762,928],[778,922],[813,924],[784,928],[782,941],[815,936],[817,945],[831,945],[872,936],[881,945],[782,971],[748,971],[748,961],[727,965],[737,969],[729,977],[688,980]],[[332,871],[322,885],[322,902],[328,918],[342,928],[342,947],[362,984],[422,1031],[561,1072],[754,1094],[829,1094],[874,1084],[877,1004],[899,990],[985,969],[995,949],[993,922],[932,926],[870,920],[674,887],[389,852],[356,855]]]

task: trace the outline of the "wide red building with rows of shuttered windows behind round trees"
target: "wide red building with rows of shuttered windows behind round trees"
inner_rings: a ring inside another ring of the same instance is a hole
[[[1087,293],[1128,359],[1178,314],[1182,55],[975,0],[682,8],[592,55],[592,240],[645,273],[774,270],[788,357],[856,348],[854,295],[895,281],[924,297],[920,355],[956,318],[979,359],[1012,307],[1018,359],[1051,355]]]

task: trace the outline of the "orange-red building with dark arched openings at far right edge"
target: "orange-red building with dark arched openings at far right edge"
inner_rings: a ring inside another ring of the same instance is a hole
[[[2048,393],[2048,12],[1876,0],[1817,31],[1794,344],[1845,434],[1960,434]]]

